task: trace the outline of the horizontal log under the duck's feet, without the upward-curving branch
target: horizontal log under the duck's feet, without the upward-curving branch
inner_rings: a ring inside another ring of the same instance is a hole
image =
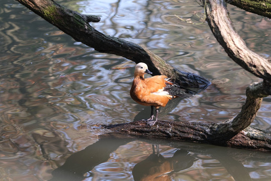
[[[136,121],[128,124],[108,125],[105,128],[122,133],[123,138],[125,137],[124,133],[139,138],[150,137],[167,139],[168,141],[207,143],[271,152],[270,132],[249,126],[227,140],[221,138],[219,133],[213,134],[209,131],[218,125],[219,123],[168,122],[159,120],[156,126],[153,127],[148,126],[147,121]],[[217,139],[215,136],[219,136],[220,139]]]

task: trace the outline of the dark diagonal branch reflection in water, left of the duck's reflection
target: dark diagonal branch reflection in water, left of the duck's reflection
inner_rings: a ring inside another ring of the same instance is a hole
[[[94,166],[107,161],[110,153],[129,141],[131,139],[101,139],[68,157],[62,166],[52,172],[51,180],[82,180],[87,172],[88,177],[93,176],[90,171]]]

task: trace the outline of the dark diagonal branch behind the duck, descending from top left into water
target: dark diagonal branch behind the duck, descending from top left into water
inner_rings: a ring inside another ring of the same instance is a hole
[[[145,62],[154,75],[167,75],[183,86],[202,89],[210,84],[204,77],[175,69],[146,47],[97,31],[89,24],[89,22],[99,22],[100,18],[97,16],[82,15],[52,0],[17,1],[76,41],[82,42],[99,52],[119,55],[135,63]]]

